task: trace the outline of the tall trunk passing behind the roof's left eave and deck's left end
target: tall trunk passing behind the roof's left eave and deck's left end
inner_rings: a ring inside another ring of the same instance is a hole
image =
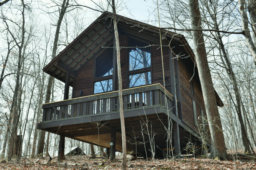
[[[66,9],[67,9],[68,5],[69,5],[69,0],[67,0],[67,2],[66,2],[66,0],[63,0],[61,11],[60,11],[60,14],[59,14],[59,20],[57,22],[57,28],[56,28],[54,42],[53,42],[53,53],[51,55],[51,59],[54,59],[55,56],[56,56],[57,45],[58,45],[58,40],[59,40],[59,30],[60,30],[61,22],[62,22],[62,19],[64,17],[64,14],[66,12]],[[53,77],[49,76],[48,84],[47,84],[47,88],[46,88],[45,103],[50,102],[52,84],[53,84]],[[45,131],[41,132],[38,142],[39,142],[39,144],[38,144],[38,148],[37,148],[37,154],[42,154],[43,153],[43,147],[44,147],[44,144],[45,144]]]

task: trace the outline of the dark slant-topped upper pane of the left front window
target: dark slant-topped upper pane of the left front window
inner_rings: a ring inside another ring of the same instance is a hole
[[[109,48],[96,57],[95,78],[113,75],[113,49]]]

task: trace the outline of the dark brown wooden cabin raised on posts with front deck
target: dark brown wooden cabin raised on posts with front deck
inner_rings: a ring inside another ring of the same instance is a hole
[[[162,66],[157,28],[123,16],[118,17],[117,27],[127,151],[151,155],[150,137],[141,131],[154,134],[158,157],[171,148],[180,154],[188,139],[200,145],[197,123],[199,116],[206,115],[205,104],[194,69],[195,55],[184,36],[161,30]],[[102,14],[43,71],[65,83],[63,101],[43,104],[42,121],[37,125],[60,135],[59,154],[64,151],[65,137],[106,147],[111,159],[115,151],[122,152],[111,16]],[[216,100],[218,106],[223,105],[217,93]],[[168,125],[172,125],[171,146],[166,142]]]

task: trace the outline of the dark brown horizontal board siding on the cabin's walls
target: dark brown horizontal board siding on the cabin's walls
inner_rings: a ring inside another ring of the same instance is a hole
[[[119,43],[121,47],[127,47],[128,35],[119,34]],[[162,57],[161,57],[161,48],[159,46],[152,46],[152,83],[161,83],[163,85],[163,71],[162,71]],[[129,64],[127,63],[128,58],[128,49],[121,48],[121,74],[122,74],[122,87],[126,89],[126,71]],[[191,87],[189,80],[191,79],[193,73],[190,72],[186,64],[182,59],[178,60],[179,64],[179,77],[181,83],[181,98],[182,98],[182,116],[183,122],[187,123],[193,130],[197,129],[194,124],[194,114],[193,114],[193,102],[192,99],[196,102],[196,112],[197,112],[197,121],[200,124],[201,121],[198,120],[198,117],[201,116],[201,109],[205,112],[205,105],[203,102],[203,95],[201,86],[197,81],[192,79],[194,82],[194,92],[195,96],[191,94]],[[169,49],[163,47],[163,66],[165,70],[165,86],[166,89],[171,93],[170,86],[170,63],[169,63]],[[175,66],[176,67],[176,66]],[[176,69],[175,69],[176,71]],[[75,79],[75,91],[74,98],[83,97],[93,94],[93,75],[94,75],[94,58],[91,58],[85,66],[77,72],[77,77]],[[177,78],[177,77],[176,77]],[[80,95],[80,90],[83,94]]]

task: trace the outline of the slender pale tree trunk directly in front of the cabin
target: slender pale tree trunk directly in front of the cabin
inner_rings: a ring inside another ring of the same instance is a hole
[[[115,1],[112,0],[112,9],[113,9],[113,22],[115,30],[115,41],[117,48],[117,75],[118,75],[118,95],[119,95],[119,111],[120,111],[120,120],[121,120],[121,129],[122,129],[122,145],[123,145],[123,170],[126,170],[126,136],[125,136],[125,118],[123,116],[123,95],[122,95],[122,75],[121,75],[121,62],[120,62],[120,47],[119,47],[119,37],[117,30],[117,20],[115,12]]]

